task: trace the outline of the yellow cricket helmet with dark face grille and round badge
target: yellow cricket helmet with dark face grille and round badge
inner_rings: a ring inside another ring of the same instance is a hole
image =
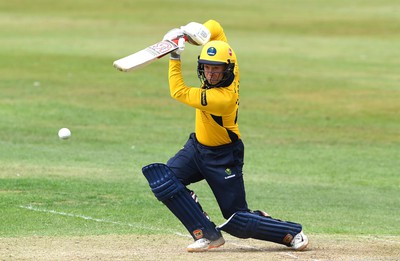
[[[198,58],[197,75],[206,88],[227,87],[233,82],[236,55],[228,43],[210,41],[204,45]],[[210,84],[204,74],[204,65],[225,65],[223,77],[217,84]]]

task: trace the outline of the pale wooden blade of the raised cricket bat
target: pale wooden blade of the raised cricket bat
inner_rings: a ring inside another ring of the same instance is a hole
[[[178,45],[175,42],[164,40],[116,60],[113,65],[120,71],[130,72],[150,64],[176,49],[178,49]]]

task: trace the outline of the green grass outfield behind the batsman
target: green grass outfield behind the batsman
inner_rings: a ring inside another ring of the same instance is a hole
[[[112,62],[212,18],[241,68],[250,207],[311,235],[398,240],[399,13],[393,0],[0,2],[0,237],[186,233],[141,167],[180,149],[194,111],[169,97],[168,59]],[[193,86],[199,52],[183,54]],[[208,187],[191,188],[224,222]]]

